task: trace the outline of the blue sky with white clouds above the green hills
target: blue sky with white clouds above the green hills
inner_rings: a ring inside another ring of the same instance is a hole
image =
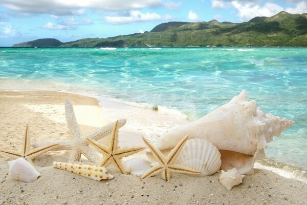
[[[305,0],[0,0],[0,46],[37,38],[69,42],[150,31],[170,21],[245,22],[280,11],[307,13]]]

